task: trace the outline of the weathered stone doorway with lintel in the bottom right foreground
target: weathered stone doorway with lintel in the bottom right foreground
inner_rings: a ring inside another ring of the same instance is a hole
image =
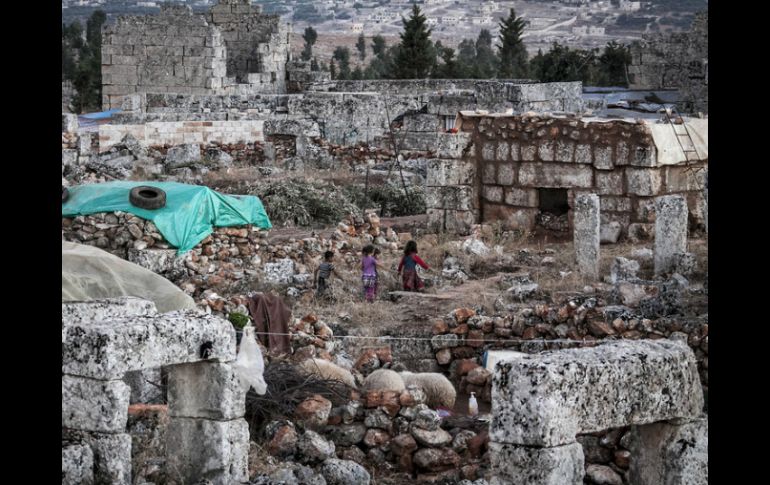
[[[708,483],[708,420],[692,351],[665,340],[521,355],[492,387],[493,484],[580,485],[581,433],[633,426],[635,485]],[[600,482],[609,483],[609,482]]]

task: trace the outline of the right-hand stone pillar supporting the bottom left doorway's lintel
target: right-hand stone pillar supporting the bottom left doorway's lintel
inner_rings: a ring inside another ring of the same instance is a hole
[[[246,393],[226,363],[175,365],[168,379],[166,463],[174,483],[248,481]]]

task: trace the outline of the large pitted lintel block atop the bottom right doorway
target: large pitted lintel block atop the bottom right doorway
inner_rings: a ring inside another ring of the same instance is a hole
[[[623,340],[500,362],[492,401],[492,441],[557,446],[582,433],[694,419],[703,393],[686,345]]]

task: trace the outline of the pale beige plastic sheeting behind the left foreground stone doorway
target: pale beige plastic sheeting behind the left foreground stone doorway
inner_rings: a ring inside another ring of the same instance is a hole
[[[160,313],[195,309],[195,301],[166,278],[92,246],[61,243],[61,299],[88,301],[135,296]]]

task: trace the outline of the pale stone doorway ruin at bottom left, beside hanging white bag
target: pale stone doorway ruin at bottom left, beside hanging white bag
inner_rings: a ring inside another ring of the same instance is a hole
[[[202,355],[206,343],[210,351]],[[171,482],[248,480],[235,343],[228,321],[196,311],[157,314],[153,303],[137,298],[63,303],[62,483],[134,483],[126,381],[161,366],[168,371]]]

